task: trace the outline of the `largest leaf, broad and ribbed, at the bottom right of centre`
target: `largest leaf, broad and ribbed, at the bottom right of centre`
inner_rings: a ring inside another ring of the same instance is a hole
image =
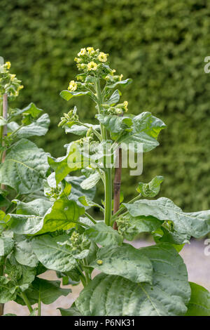
[[[148,246],[140,251],[153,264],[153,285],[99,274],[76,300],[82,315],[185,315],[190,286],[179,253],[169,244]]]

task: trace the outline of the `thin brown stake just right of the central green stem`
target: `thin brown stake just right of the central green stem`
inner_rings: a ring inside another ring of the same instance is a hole
[[[113,213],[115,214],[120,208],[120,187],[121,187],[121,172],[122,172],[122,149],[119,147],[117,150],[117,162],[116,173],[114,178],[114,205]],[[113,229],[118,230],[116,221],[113,223]]]

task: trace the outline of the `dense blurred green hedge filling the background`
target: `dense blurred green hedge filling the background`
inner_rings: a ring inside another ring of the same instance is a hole
[[[51,117],[39,145],[53,156],[64,153],[71,137],[55,128],[74,100],[66,103],[59,91],[76,74],[80,48],[101,48],[118,73],[133,79],[123,92],[130,112],[148,110],[167,124],[160,147],[144,156],[144,175],[124,176],[124,192],[163,174],[162,196],[186,211],[210,209],[208,0],[1,0],[0,13],[0,55],[25,85],[16,105],[33,100]],[[94,119],[87,98],[76,103],[83,119]]]

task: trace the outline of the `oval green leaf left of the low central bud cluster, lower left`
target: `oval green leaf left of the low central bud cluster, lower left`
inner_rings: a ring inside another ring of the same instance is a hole
[[[32,246],[36,257],[48,269],[60,272],[72,270],[77,265],[76,259],[73,258],[70,250],[57,242],[60,242],[60,237],[43,235],[34,238]]]

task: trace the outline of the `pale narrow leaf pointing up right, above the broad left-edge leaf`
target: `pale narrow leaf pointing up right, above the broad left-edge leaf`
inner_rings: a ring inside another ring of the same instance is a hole
[[[50,118],[48,114],[43,114],[36,121],[27,126],[23,126],[15,133],[17,138],[30,138],[31,136],[44,136],[48,131]]]

